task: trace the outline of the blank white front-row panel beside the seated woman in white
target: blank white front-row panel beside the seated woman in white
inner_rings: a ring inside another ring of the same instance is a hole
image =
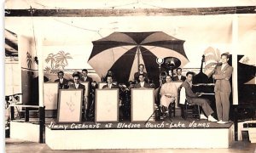
[[[154,112],[154,88],[131,89],[131,122],[145,122]],[[150,119],[149,121],[152,121]]]

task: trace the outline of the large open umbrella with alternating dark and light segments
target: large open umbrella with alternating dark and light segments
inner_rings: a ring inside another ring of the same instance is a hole
[[[88,63],[100,77],[112,70],[118,82],[133,81],[139,64],[145,65],[153,82],[159,82],[157,58],[176,57],[181,60],[181,67],[188,62],[184,41],[162,31],[113,32],[92,43]]]

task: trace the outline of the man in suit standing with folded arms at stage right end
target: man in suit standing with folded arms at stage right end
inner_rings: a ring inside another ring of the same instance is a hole
[[[221,54],[222,65],[216,67],[212,78],[216,80],[214,92],[216,100],[216,109],[218,123],[224,124],[229,122],[230,114],[230,77],[233,67],[228,64],[229,54]]]

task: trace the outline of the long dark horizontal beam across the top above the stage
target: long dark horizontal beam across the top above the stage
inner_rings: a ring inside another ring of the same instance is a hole
[[[5,16],[97,17],[97,16],[174,16],[210,14],[255,14],[256,6],[214,8],[134,8],[134,9],[5,9]]]

